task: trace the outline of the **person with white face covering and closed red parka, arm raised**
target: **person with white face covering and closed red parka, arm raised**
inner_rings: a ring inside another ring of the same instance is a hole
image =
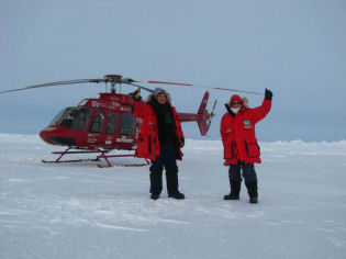
[[[242,176],[250,203],[258,202],[257,176],[254,164],[260,164],[260,149],[255,135],[255,124],[263,120],[271,108],[272,92],[266,89],[260,106],[247,108],[244,100],[234,94],[225,104],[227,113],[221,120],[220,134],[224,147],[225,166],[230,166],[231,193],[224,200],[239,200]]]

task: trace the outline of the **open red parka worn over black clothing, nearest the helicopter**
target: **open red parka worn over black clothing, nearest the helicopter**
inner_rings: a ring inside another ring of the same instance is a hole
[[[134,101],[133,103],[134,115],[143,120],[135,156],[138,158],[155,160],[156,157],[160,154],[156,113],[153,110],[152,105],[148,103],[145,103],[143,101]],[[175,133],[178,137],[178,140],[180,142],[183,139],[180,121],[178,119],[178,113],[176,109],[171,106],[171,110],[176,122]],[[178,146],[176,158],[179,160],[181,160],[182,158],[182,153],[180,150],[180,147]]]

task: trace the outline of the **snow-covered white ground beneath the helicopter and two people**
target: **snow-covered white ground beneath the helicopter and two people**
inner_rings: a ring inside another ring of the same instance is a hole
[[[191,139],[187,199],[152,201],[148,167],[42,164],[60,148],[0,134],[0,258],[346,258],[346,140],[260,146],[258,204],[223,201],[221,142]]]

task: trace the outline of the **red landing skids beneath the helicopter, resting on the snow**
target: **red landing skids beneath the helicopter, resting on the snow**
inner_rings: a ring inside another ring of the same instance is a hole
[[[71,150],[76,149],[76,150]],[[70,160],[62,160],[62,158],[65,155],[70,155],[70,154],[90,154],[90,153],[99,153],[100,155],[97,156],[96,158],[89,158],[89,159],[70,159]],[[134,154],[130,155],[107,155],[109,151],[102,150],[102,149],[83,149],[83,148],[76,148],[76,147],[68,147],[64,151],[53,151],[52,154],[59,155],[55,160],[42,160],[42,162],[47,162],[47,164],[59,164],[59,162],[78,162],[78,161],[100,161],[100,158],[103,158],[107,162],[107,166],[102,165],[97,165],[99,168],[105,168],[105,167],[113,167],[111,162],[109,161],[109,158],[112,157],[135,157]],[[145,159],[145,164],[133,164],[133,165],[121,165],[123,167],[144,167],[148,166],[150,162],[148,159]]]

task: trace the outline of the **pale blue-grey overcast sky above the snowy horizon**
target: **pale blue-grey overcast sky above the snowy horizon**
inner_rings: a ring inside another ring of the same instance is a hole
[[[268,88],[274,104],[257,124],[259,140],[346,139],[346,1],[0,0],[0,90],[108,74]],[[103,90],[87,85],[1,94],[0,132],[36,134],[63,108]],[[166,90],[181,112],[196,112],[204,93]],[[210,137],[217,139],[232,93],[210,93],[217,99]],[[261,103],[263,95],[246,97],[250,106]],[[199,135],[194,123],[183,131]]]

